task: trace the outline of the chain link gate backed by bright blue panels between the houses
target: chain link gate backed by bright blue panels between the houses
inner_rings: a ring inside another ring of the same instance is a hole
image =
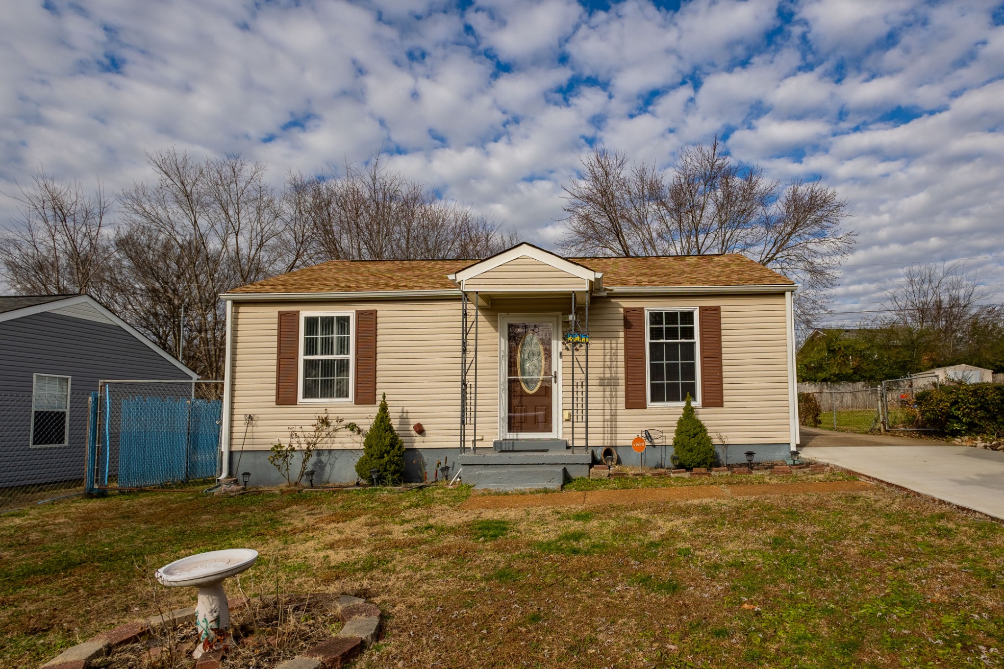
[[[94,395],[88,491],[219,475],[222,381],[101,381]]]

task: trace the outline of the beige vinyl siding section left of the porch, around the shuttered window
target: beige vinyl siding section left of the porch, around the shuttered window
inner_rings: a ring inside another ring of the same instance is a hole
[[[376,310],[376,399],[387,393],[391,420],[407,446],[459,446],[460,302],[235,303],[233,314],[233,423],[231,447],[267,449],[289,437],[289,428],[308,427],[326,407],[331,417],[368,427],[378,405],[351,402],[275,404],[278,312]],[[302,337],[302,332],[300,333]],[[354,345],[354,344],[353,344]],[[247,429],[244,416],[256,416]],[[421,422],[424,436],[412,425]],[[333,447],[361,447],[347,433]]]

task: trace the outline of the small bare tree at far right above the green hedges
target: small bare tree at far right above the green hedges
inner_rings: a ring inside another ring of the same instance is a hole
[[[939,355],[951,358],[989,294],[965,274],[962,261],[922,263],[909,266],[886,289],[886,308],[895,322],[933,334]]]

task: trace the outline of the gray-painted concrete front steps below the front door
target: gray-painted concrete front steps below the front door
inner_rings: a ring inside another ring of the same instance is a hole
[[[560,488],[566,479],[589,475],[589,452],[509,451],[464,454],[457,458],[465,483],[500,490]]]

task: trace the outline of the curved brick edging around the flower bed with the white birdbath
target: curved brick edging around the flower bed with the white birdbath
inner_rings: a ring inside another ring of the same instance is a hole
[[[301,655],[276,665],[276,669],[338,669],[346,666],[362,649],[381,637],[381,610],[375,604],[348,595],[332,596],[315,594],[311,600],[322,603],[332,613],[337,613],[342,627],[337,635],[322,641]],[[234,601],[231,611],[248,605],[240,598]],[[195,621],[195,609],[176,609],[164,615],[152,616],[143,621],[126,623],[101,632],[82,644],[67,648],[41,665],[43,669],[87,669],[91,661],[107,655],[117,646],[135,643],[150,636],[162,625],[184,625]],[[159,647],[158,647],[159,648]],[[154,654],[155,649],[149,652]],[[208,653],[196,662],[196,669],[217,669],[222,664],[223,652]]]

